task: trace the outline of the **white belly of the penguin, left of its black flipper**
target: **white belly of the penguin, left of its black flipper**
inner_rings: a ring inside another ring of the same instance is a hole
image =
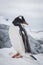
[[[24,54],[25,48],[24,48],[22,37],[20,36],[20,33],[19,33],[18,26],[14,26],[13,24],[11,24],[9,28],[9,37],[14,49],[20,54]]]

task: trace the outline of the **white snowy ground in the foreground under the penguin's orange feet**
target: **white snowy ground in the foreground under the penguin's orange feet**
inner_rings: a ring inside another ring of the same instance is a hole
[[[11,58],[10,52],[14,52],[13,48],[0,49],[0,65],[38,65],[30,54],[25,54],[23,58]]]

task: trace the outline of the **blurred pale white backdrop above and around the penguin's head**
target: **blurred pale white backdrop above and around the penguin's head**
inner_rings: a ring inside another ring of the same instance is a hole
[[[43,30],[43,0],[0,0],[0,18],[9,24],[19,15],[23,15],[31,30]]]

